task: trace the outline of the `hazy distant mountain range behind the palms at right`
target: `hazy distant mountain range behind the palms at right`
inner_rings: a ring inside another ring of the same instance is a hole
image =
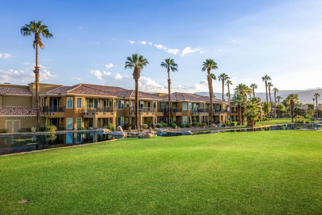
[[[225,89],[225,93],[227,93],[226,89]],[[300,102],[303,104],[313,103],[312,98],[314,98],[314,96],[313,96],[314,93],[320,93],[321,98],[317,99],[317,103],[322,103],[322,100],[321,100],[322,99],[322,88],[321,87],[306,89],[306,90],[281,90],[276,93],[276,96],[279,95],[283,99],[285,99],[290,93],[298,94]],[[196,92],[195,94],[209,96],[209,92]],[[222,93],[213,93],[213,94],[216,96],[217,99],[222,99]],[[272,101],[273,101],[274,100],[274,92],[271,92],[270,95],[271,95]],[[233,94],[231,95],[231,97],[232,96],[233,96]],[[255,96],[260,97],[260,99],[262,101],[266,101],[266,93],[256,93],[255,92]],[[227,97],[224,96],[224,98],[227,101]],[[270,97],[268,99],[270,99]]]

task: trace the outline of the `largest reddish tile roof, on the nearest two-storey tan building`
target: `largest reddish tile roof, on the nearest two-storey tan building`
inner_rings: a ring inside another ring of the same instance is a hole
[[[134,90],[127,90],[121,87],[97,85],[97,84],[87,84],[81,83],[74,86],[61,86],[53,90],[41,93],[54,93],[54,94],[63,94],[63,93],[76,93],[76,94],[89,94],[89,95],[105,95],[105,96],[116,96],[116,97],[135,97]],[[148,93],[143,93],[139,91],[139,98],[148,98],[148,99],[162,99],[158,96],[151,95]]]

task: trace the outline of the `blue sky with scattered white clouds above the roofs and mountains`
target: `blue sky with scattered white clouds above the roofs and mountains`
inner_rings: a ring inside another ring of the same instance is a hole
[[[280,90],[320,87],[321,11],[321,1],[2,1],[0,82],[34,80],[33,38],[20,28],[35,19],[54,35],[39,53],[43,83],[133,89],[124,63],[139,53],[150,63],[141,91],[167,91],[160,63],[168,57],[179,65],[171,73],[173,92],[208,91],[201,71],[207,58],[217,62],[216,76],[231,77],[232,89],[257,83],[264,92],[265,74]],[[218,81],[214,91],[221,92]]]

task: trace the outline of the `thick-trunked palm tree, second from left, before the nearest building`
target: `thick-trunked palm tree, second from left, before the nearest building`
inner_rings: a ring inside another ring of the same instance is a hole
[[[125,62],[125,69],[133,69],[133,79],[135,80],[135,125],[134,128],[137,129],[139,126],[139,87],[138,82],[140,78],[140,71],[143,70],[145,66],[147,66],[149,62],[142,55],[132,54],[132,57],[127,57]]]

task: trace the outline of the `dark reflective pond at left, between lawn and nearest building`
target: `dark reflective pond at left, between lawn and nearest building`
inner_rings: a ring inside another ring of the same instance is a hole
[[[107,133],[64,133],[50,135],[11,135],[0,136],[0,155],[25,151],[59,148],[84,143],[112,140]]]

